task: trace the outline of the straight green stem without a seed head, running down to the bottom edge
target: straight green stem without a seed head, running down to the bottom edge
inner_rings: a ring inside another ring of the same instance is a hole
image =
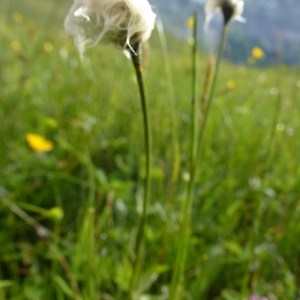
[[[198,102],[197,97],[197,14],[193,16],[193,48],[192,48],[192,128],[190,147],[190,180],[187,187],[186,199],[182,208],[181,228],[179,234],[179,246],[175,261],[175,268],[172,277],[170,299],[180,299],[183,289],[183,272],[186,265],[186,256],[190,233],[190,212],[193,203],[193,191],[195,185],[195,169],[197,156],[197,136],[198,136]]]

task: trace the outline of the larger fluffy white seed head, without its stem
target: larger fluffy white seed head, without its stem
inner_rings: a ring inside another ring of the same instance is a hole
[[[64,26],[81,54],[100,41],[134,51],[149,39],[155,18],[147,0],[74,0]]]

